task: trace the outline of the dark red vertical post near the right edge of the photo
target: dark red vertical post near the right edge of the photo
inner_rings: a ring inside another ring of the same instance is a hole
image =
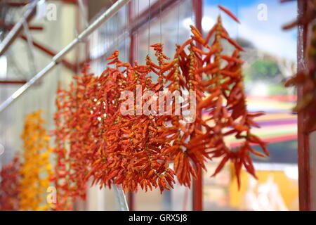
[[[298,1],[298,15],[307,11],[307,2]],[[298,27],[298,72],[305,68],[305,45],[308,27]],[[303,87],[298,87],[298,100],[303,98]],[[298,113],[298,190],[300,210],[310,210],[310,146],[309,134],[304,131],[304,118],[306,112]]]

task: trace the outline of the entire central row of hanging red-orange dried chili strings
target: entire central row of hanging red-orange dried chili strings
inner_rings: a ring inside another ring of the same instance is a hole
[[[193,26],[191,31],[192,37],[176,46],[172,60],[162,44],[151,46],[157,64],[147,56],[146,65],[132,66],[114,51],[99,77],[86,66],[68,91],[58,88],[54,180],[62,190],[60,205],[67,207],[69,196],[84,196],[90,177],[100,187],[117,185],[124,191],[137,191],[138,186],[164,191],[173,187],[175,178],[190,187],[192,177],[212,158],[222,158],[214,175],[230,160],[238,184],[243,166],[256,176],[251,154],[264,157],[268,150],[251,133],[251,127],[258,127],[254,118],[262,113],[246,108],[240,58],[244,50],[229,37],[220,17],[205,38]],[[231,55],[224,54],[223,41],[235,49]],[[157,103],[161,95],[172,101]],[[166,108],[171,111],[166,113]],[[242,140],[236,150],[224,141],[232,135]]]

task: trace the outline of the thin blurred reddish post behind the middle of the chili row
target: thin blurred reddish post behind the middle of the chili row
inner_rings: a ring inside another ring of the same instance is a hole
[[[136,1],[131,1],[129,3],[129,26],[131,26],[131,21],[133,21],[134,19],[134,13],[133,12],[133,4],[136,4]],[[130,45],[129,45],[129,63],[131,63],[131,65],[133,65],[134,61],[136,60],[135,57],[135,46],[136,46],[136,37],[135,34],[133,34],[133,32],[129,32],[130,35]],[[129,210],[130,211],[134,211],[135,210],[135,194],[133,192],[129,192],[128,194],[129,196]]]

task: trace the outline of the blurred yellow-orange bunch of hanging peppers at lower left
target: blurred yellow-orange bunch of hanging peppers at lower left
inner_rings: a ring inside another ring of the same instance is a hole
[[[19,184],[19,210],[49,210],[46,203],[46,191],[51,176],[49,157],[52,148],[50,137],[44,127],[46,123],[41,117],[42,110],[27,115],[21,134],[24,153]]]

